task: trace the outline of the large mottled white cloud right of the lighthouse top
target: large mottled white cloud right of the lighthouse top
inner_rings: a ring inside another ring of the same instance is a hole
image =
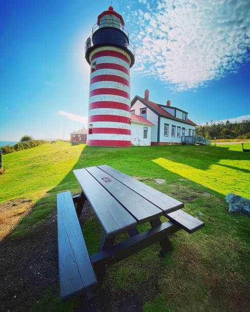
[[[158,0],[150,4],[148,12],[131,12],[134,68],[139,73],[187,90],[237,72],[239,64],[250,59],[249,0]]]

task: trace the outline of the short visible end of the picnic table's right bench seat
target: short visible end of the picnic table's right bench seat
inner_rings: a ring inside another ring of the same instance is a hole
[[[166,217],[179,224],[188,233],[193,233],[205,226],[204,222],[194,218],[181,209],[166,215]]]

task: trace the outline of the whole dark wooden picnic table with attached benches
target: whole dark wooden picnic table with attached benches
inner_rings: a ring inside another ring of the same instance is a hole
[[[192,233],[204,223],[181,210],[184,203],[167,196],[110,166],[73,170],[82,188],[80,195],[57,194],[58,254],[61,300],[86,293],[98,294],[105,270],[118,261],[160,243],[162,253],[172,250],[168,236],[184,229]],[[89,255],[79,218],[88,200],[102,225],[98,251]],[[74,203],[77,203],[75,209]],[[162,223],[161,216],[169,221]],[[139,233],[145,222],[151,229]],[[116,236],[130,238],[114,245]]]

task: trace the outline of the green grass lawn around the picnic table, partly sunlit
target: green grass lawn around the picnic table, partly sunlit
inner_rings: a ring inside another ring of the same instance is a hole
[[[250,148],[250,143],[244,147]],[[145,311],[229,310],[249,287],[250,235],[249,218],[229,214],[224,197],[236,193],[250,198],[249,158],[240,144],[131,148],[44,144],[3,156],[6,171],[0,176],[0,202],[33,200],[32,211],[12,234],[19,237],[56,209],[58,192],[80,192],[72,169],[107,164],[136,176],[183,201],[184,210],[204,221],[205,227],[192,235],[183,230],[174,234],[174,250],[165,258],[157,256],[159,246],[154,244],[112,266],[103,287],[113,296],[126,289],[143,298]],[[157,185],[154,178],[166,183]],[[90,253],[95,252],[102,235],[97,220],[88,220],[83,231]]]

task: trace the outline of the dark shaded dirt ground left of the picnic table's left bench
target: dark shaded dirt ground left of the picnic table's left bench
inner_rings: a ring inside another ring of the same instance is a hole
[[[15,206],[16,207],[16,206]],[[48,288],[58,291],[56,213],[24,238],[0,242],[0,297],[3,311],[24,310]]]

